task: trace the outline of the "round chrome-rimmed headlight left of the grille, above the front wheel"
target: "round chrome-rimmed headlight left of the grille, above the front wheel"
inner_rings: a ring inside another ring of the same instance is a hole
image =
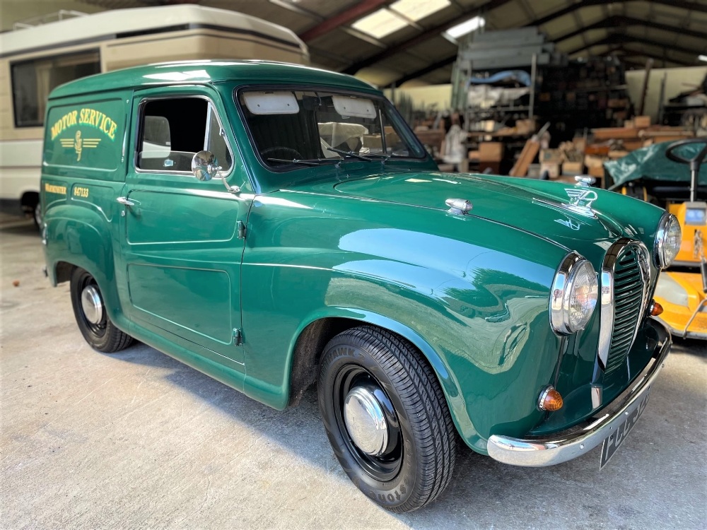
[[[559,334],[584,329],[597,305],[599,283],[594,267],[575,252],[567,254],[555,273],[550,294],[550,324]]]

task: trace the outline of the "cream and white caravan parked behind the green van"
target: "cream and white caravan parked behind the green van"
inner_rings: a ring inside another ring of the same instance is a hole
[[[308,64],[291,30],[252,16],[196,5],[117,9],[0,34],[0,204],[41,224],[42,134],[52,88],[163,61],[267,59]]]

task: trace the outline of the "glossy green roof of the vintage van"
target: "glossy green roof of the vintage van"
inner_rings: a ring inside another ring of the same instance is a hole
[[[300,64],[259,60],[197,60],[148,64],[98,73],[55,88],[49,95],[49,99],[120,88],[140,86],[146,88],[166,84],[210,84],[216,81],[242,81],[244,84],[292,82],[345,86],[366,91],[375,88],[353,76]]]

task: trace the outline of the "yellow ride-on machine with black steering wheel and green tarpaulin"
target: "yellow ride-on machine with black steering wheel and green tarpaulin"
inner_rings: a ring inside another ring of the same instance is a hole
[[[679,338],[707,339],[706,161],[707,138],[696,138],[639,149],[604,165],[612,189],[658,202],[679,220],[682,236],[674,237],[682,237],[680,251],[655,288],[659,318]],[[689,187],[677,164],[689,166]]]

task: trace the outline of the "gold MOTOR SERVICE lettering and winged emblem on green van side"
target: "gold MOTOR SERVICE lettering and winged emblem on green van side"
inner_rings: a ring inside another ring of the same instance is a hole
[[[64,132],[69,132],[70,129],[74,127],[78,128],[76,132],[71,131],[70,135],[59,138],[59,143],[61,143],[63,148],[74,150],[76,153],[76,162],[81,161],[81,155],[84,149],[98,147],[98,144],[100,144],[102,140],[101,138],[90,138],[86,136],[86,134],[90,134],[90,130],[82,131],[81,129],[84,127],[98,129],[98,131],[107,136],[110,141],[115,141],[115,131],[117,129],[115,120],[107,116],[104,112],[89,107],[85,107],[81,110],[72,110],[57,119],[51,129],[52,140],[57,139],[57,136]]]

